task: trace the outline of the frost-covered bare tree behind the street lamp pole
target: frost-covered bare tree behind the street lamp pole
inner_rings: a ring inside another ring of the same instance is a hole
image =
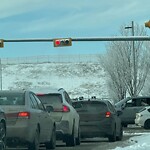
[[[120,33],[122,36],[131,36],[131,31],[125,30],[125,25],[120,27]],[[134,35],[144,36],[146,31],[136,24]],[[119,99],[126,97],[126,93],[137,96],[141,92],[150,69],[148,44],[143,41],[113,41],[107,44],[107,53],[101,60],[110,76],[109,87]]]

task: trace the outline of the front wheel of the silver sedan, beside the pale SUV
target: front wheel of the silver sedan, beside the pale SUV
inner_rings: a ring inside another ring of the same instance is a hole
[[[45,144],[46,149],[55,149],[56,147],[56,128],[54,127],[53,131],[52,131],[52,136],[50,139],[50,142]]]

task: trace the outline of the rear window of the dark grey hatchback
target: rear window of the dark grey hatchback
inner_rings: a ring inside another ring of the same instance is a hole
[[[77,108],[77,111],[88,111],[88,112],[105,112],[107,111],[107,106],[105,103],[101,102],[83,102],[81,103],[82,107]]]

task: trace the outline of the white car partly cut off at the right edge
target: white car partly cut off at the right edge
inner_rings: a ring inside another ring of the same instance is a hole
[[[135,124],[145,129],[150,129],[150,106],[136,113]]]

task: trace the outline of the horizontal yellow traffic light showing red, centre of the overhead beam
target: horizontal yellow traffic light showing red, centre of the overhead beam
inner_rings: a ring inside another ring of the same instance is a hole
[[[61,38],[61,39],[54,39],[54,47],[62,47],[62,46],[71,46],[72,39],[71,38]]]

